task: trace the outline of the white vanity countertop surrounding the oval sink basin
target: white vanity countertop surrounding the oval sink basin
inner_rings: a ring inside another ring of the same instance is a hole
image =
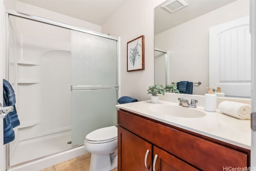
[[[204,107],[197,107],[206,115],[204,117],[187,118],[163,115],[150,110],[154,105],[174,105],[178,103],[160,101],[151,103],[148,101],[138,101],[134,103],[125,103],[116,105],[117,108],[125,109],[188,131],[193,131],[220,141],[224,141],[239,147],[251,149],[251,129],[249,119],[237,119],[221,113],[218,109],[216,112],[204,111]],[[181,106],[180,106],[181,107]],[[192,108],[191,108],[192,109]],[[189,113],[188,113],[189,115]]]

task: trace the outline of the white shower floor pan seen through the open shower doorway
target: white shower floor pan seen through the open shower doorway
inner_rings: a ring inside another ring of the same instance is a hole
[[[10,155],[10,166],[68,149],[71,147],[68,141],[71,141],[71,131],[20,141]]]

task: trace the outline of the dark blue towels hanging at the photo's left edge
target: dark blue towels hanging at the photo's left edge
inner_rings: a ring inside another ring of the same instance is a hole
[[[4,118],[4,144],[9,143],[10,141],[13,141],[15,138],[13,128],[20,125],[20,120],[18,119],[15,103],[15,93],[12,88],[12,85],[6,81],[3,80],[3,102],[4,106],[13,106],[13,111],[8,113],[6,118]]]

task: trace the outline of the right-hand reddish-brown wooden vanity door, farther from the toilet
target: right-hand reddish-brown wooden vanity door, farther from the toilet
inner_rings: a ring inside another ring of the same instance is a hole
[[[153,171],[199,171],[192,165],[154,146]]]

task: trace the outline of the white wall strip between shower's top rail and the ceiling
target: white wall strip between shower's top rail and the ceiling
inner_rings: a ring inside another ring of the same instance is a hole
[[[59,14],[57,12],[52,12],[50,10],[46,10],[44,8],[39,8],[30,4],[26,4],[24,2],[16,1],[16,0],[4,0],[4,4],[6,9],[17,10],[20,12],[25,12],[28,14],[32,14],[35,16],[39,16],[42,18],[46,18],[49,20],[53,20],[56,22],[61,22],[64,24],[68,24],[71,26],[76,26],[80,28],[84,28],[87,30],[92,30],[95,32],[101,32],[101,26],[92,24],[90,22],[85,22],[70,16],[65,16],[63,14]],[[70,9],[72,10],[72,9]]]

